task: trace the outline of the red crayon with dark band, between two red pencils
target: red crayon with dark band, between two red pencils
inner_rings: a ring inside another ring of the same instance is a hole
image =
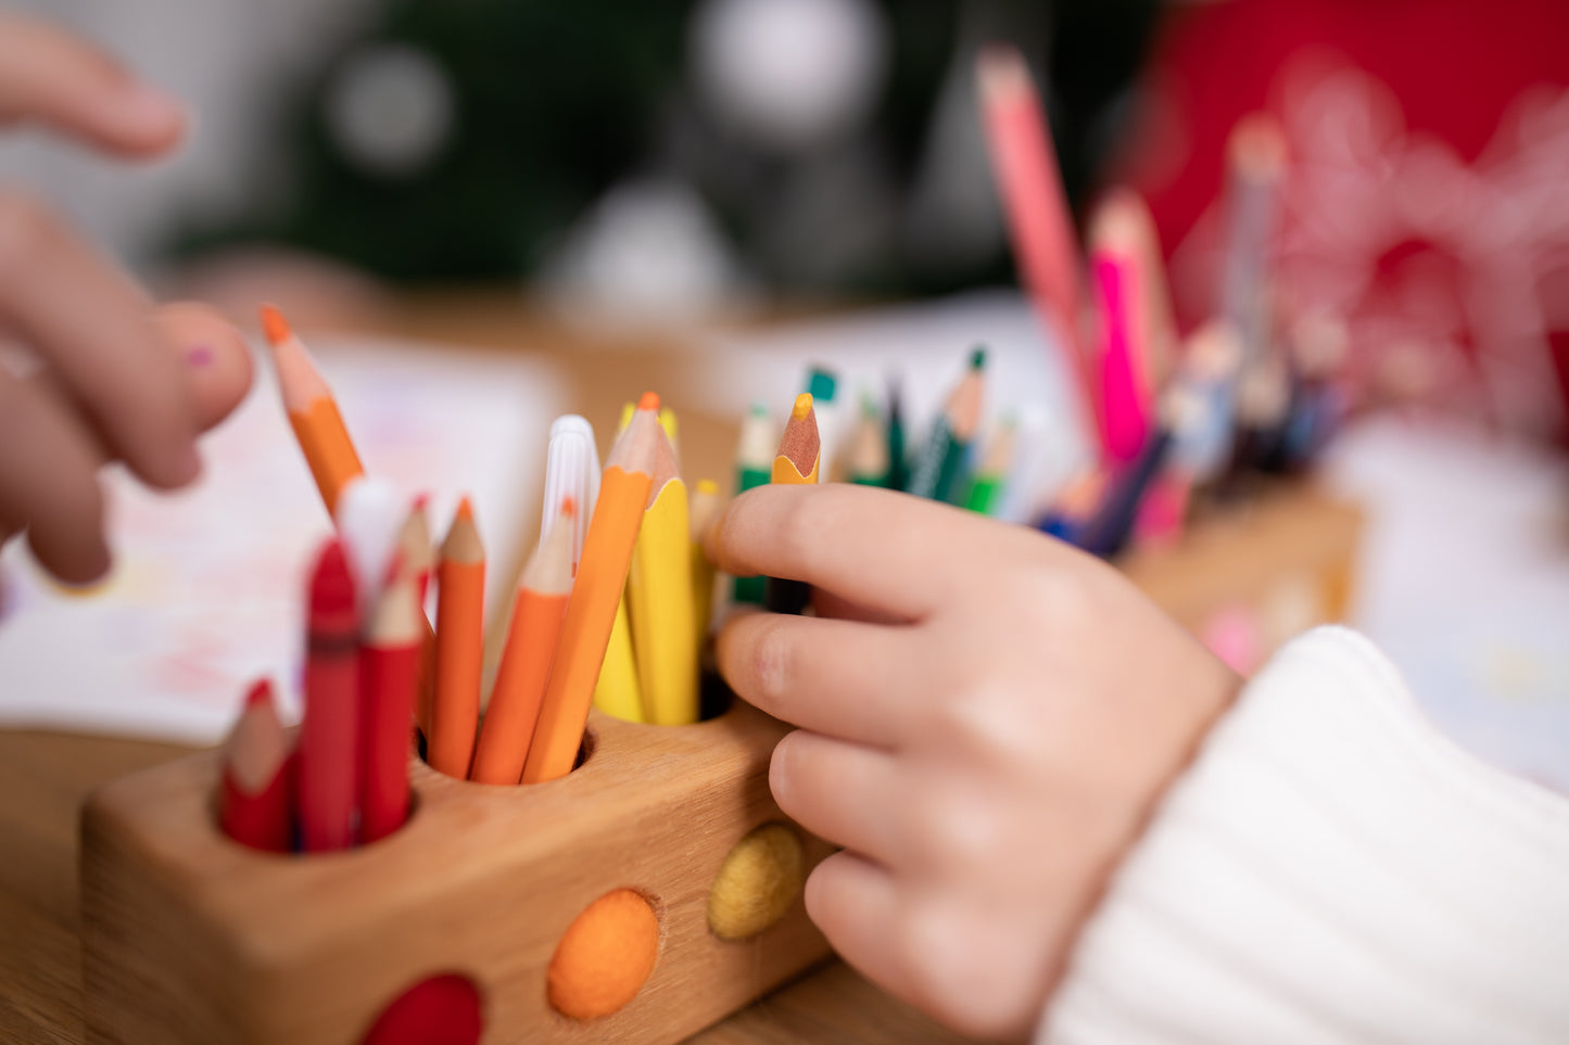
[[[311,623],[300,730],[300,838],[306,852],[355,844],[359,789],[359,620],[344,546],[311,571]]]

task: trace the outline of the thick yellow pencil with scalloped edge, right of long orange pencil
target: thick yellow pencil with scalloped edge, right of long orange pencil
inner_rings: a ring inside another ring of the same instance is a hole
[[[692,606],[692,516],[675,450],[657,436],[653,496],[626,579],[643,720],[697,722],[697,623]]]

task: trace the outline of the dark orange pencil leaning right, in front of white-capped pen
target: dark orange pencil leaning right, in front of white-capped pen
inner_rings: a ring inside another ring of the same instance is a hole
[[[562,634],[566,596],[573,590],[574,515],[576,505],[568,497],[518,581],[507,645],[496,668],[496,687],[469,780],[515,785],[522,775]]]

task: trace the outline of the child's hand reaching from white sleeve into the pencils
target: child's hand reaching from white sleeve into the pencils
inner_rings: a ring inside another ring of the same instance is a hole
[[[711,554],[811,582],[828,615],[719,637],[736,692],[802,726],[774,752],[780,808],[847,850],[806,883],[813,921],[951,1028],[1028,1034],[1241,679],[1105,563],[904,494],[763,486]]]

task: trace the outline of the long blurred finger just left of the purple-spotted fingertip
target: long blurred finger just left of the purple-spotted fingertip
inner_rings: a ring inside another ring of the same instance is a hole
[[[146,293],[46,207],[3,190],[0,314],[144,482],[174,488],[201,472],[187,367]]]

